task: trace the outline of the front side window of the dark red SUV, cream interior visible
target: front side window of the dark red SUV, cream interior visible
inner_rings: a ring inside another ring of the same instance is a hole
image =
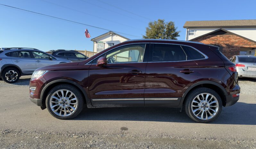
[[[133,44],[107,52],[108,63],[142,62],[145,44]]]

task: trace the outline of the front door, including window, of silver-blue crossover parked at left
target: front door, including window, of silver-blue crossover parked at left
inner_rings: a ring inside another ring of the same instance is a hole
[[[41,52],[41,51],[31,51],[34,59],[36,61],[36,67],[40,68],[43,66],[53,65],[56,64],[56,59],[50,59],[50,55]]]

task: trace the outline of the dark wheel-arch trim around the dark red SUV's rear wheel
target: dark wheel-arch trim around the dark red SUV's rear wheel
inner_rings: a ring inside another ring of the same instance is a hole
[[[220,85],[219,83],[217,82],[213,82],[213,81],[201,81],[201,82],[197,82],[193,85],[191,85],[184,93],[183,93],[183,96],[182,96],[182,101],[181,103],[184,104],[184,99],[186,98],[186,95],[191,92],[193,89],[196,89],[198,87],[206,87],[206,88],[209,88],[209,89],[212,89],[214,91],[216,91],[221,100],[222,100],[222,105],[223,106],[226,106],[226,96],[228,95],[227,91],[225,90],[225,88]]]

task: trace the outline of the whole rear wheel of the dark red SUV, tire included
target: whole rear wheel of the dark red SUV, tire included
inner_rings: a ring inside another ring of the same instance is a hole
[[[196,122],[207,123],[215,120],[222,110],[218,93],[209,88],[196,88],[185,99],[185,112]]]

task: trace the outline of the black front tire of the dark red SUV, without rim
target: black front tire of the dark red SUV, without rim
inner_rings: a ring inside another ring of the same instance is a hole
[[[69,90],[71,92],[73,92],[73,94],[76,96],[77,98],[77,109],[74,111],[73,114],[69,115],[69,116],[59,116],[56,115],[50,108],[50,98],[53,95],[53,93],[55,93],[55,91],[57,90]],[[69,84],[61,84],[61,85],[57,85],[54,88],[52,88],[49,93],[47,94],[47,98],[46,98],[46,107],[49,111],[50,114],[52,114],[55,118],[57,119],[61,119],[61,120],[68,120],[68,119],[73,119],[74,117],[76,117],[78,114],[81,113],[82,109],[84,106],[84,97],[82,95],[82,93],[80,92],[80,90],[78,88],[76,88],[73,85],[69,85]]]

